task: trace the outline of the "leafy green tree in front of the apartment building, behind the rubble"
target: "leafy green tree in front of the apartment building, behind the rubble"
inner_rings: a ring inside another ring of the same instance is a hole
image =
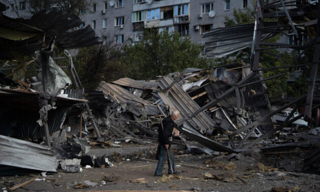
[[[130,78],[149,79],[187,67],[207,67],[207,59],[201,57],[203,46],[192,43],[189,37],[146,29],[141,38],[125,46],[122,54],[121,61]]]

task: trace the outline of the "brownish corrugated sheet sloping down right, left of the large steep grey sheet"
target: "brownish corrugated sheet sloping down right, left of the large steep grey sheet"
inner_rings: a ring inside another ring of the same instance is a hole
[[[151,103],[137,97],[118,85],[102,81],[98,89],[101,89],[104,94],[109,95],[110,98],[117,103],[136,102],[137,104],[144,105],[145,112],[149,115],[158,115],[160,113],[157,106],[152,106]]]

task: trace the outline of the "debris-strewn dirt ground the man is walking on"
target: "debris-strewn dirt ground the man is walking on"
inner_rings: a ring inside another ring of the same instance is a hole
[[[285,187],[281,191],[320,191],[320,176],[304,173],[288,173],[259,164],[251,157],[209,155],[182,155],[176,157],[177,171],[181,173],[168,179],[154,176],[157,162],[132,157],[114,161],[112,167],[85,169],[79,173],[58,170],[44,180],[35,180],[15,191],[88,191],[88,190],[191,190],[191,191],[271,191],[272,187]],[[153,158],[154,157],[149,157]],[[183,164],[180,165],[179,164]],[[188,167],[185,165],[193,165]],[[165,165],[163,174],[167,173]],[[16,185],[35,176],[2,177],[0,186]],[[42,178],[38,175],[38,178]],[[144,178],[139,182],[131,180]],[[160,181],[162,179],[162,181]],[[85,181],[89,188],[75,188]],[[167,182],[164,182],[167,181]],[[96,185],[96,186],[94,186]],[[9,187],[8,187],[9,188]]]

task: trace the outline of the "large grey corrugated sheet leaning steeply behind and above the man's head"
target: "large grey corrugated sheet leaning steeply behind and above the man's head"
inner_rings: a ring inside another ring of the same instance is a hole
[[[161,89],[164,89],[172,82],[174,82],[173,78],[163,77],[160,78],[159,85]],[[180,118],[186,118],[200,108],[177,83],[175,83],[167,93],[159,92],[159,95],[163,102],[170,106],[170,109],[177,109],[180,111]],[[194,118],[189,119],[187,124],[202,133],[207,129],[213,129],[215,125],[205,112],[201,112]]]

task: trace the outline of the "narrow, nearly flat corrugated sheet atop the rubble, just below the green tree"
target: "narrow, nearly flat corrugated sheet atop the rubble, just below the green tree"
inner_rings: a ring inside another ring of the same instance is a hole
[[[113,81],[112,83],[121,85],[121,86],[127,86],[127,87],[133,87],[137,89],[151,89],[155,91],[159,91],[159,84],[157,82],[148,82],[148,81],[137,81],[130,78],[121,78],[116,81]]]

